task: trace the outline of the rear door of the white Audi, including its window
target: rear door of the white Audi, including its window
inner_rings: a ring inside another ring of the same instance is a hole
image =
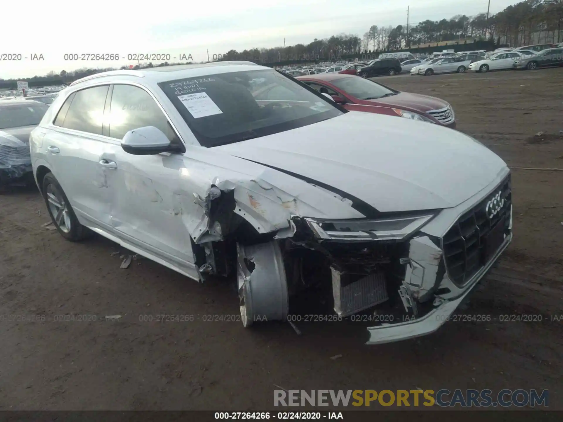
[[[46,131],[47,162],[82,223],[111,231],[108,185],[110,165],[102,155],[113,145],[102,135],[109,85],[84,88],[70,95]],[[87,220],[87,222],[84,222]]]

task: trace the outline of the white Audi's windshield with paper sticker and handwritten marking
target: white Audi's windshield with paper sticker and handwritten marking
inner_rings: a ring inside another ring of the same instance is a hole
[[[336,103],[275,70],[248,70],[158,84],[205,147],[225,145],[343,114]]]

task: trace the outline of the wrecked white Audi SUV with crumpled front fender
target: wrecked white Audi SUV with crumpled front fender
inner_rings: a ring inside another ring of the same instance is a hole
[[[306,290],[323,320],[368,316],[368,344],[428,334],[512,239],[510,171],[480,142],[251,62],[78,80],[30,150],[62,236],[236,280],[244,326]]]

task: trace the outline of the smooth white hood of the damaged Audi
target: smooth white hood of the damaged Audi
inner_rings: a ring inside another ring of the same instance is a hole
[[[336,187],[381,212],[450,208],[506,171],[461,132],[355,111],[216,149]]]

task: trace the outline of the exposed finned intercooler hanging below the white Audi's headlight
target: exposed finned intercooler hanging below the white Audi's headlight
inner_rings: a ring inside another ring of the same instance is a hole
[[[388,299],[385,276],[381,272],[365,276],[340,272],[334,267],[330,267],[330,271],[334,312],[339,316],[352,315]]]

